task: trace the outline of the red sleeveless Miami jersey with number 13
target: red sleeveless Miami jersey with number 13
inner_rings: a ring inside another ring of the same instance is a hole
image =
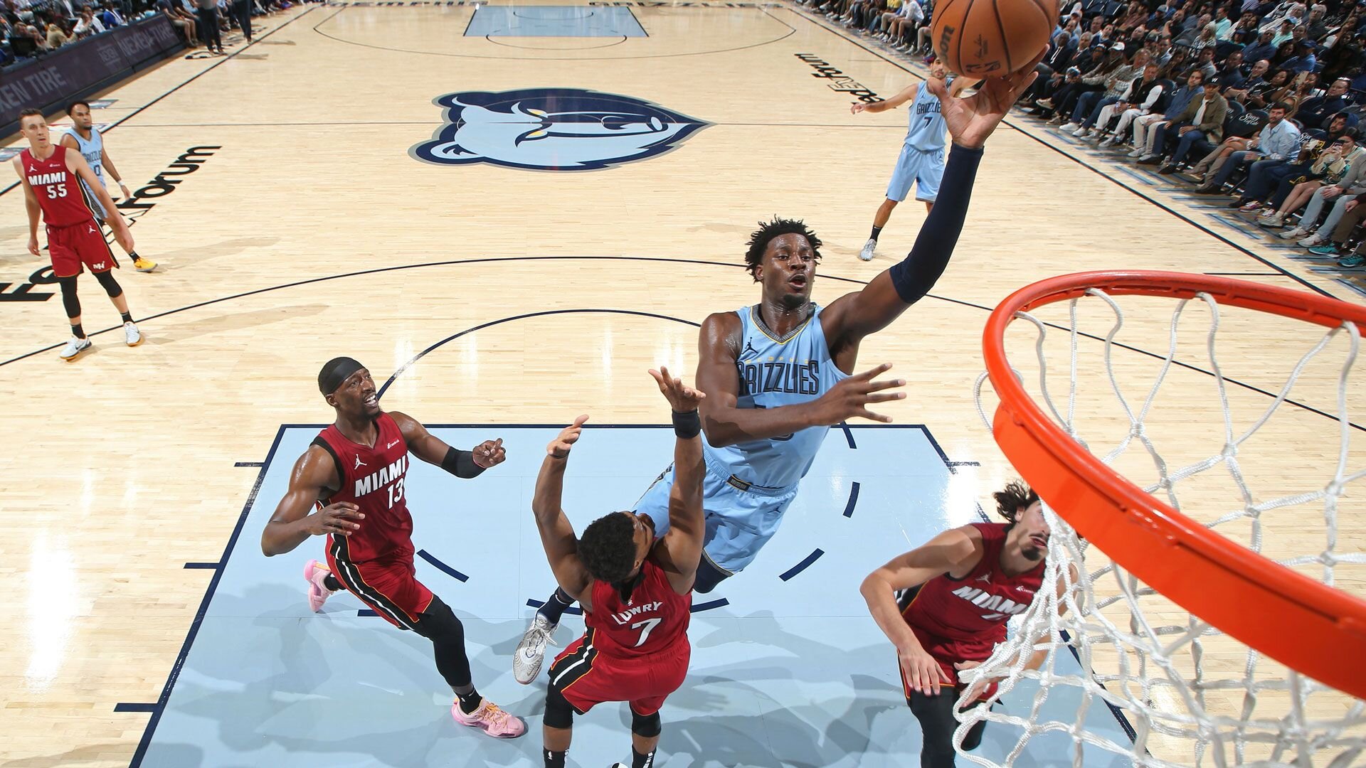
[[[332,454],[339,488],[318,507],[350,502],[361,508],[361,529],[346,537],[347,559],[357,563],[381,559],[413,559],[413,515],[403,482],[408,471],[408,444],[399,424],[387,413],[374,421],[374,445],[352,443],[331,425],[313,444]],[[329,534],[329,549],[331,549]]]

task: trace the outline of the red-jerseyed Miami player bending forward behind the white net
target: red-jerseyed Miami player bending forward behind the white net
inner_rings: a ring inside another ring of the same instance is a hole
[[[1005,622],[1023,614],[1042,586],[1049,530],[1038,493],[1011,482],[993,496],[996,511],[1009,522],[945,530],[873,571],[861,588],[877,626],[896,646],[906,702],[925,735],[921,768],[953,767],[953,707],[966,687],[958,672],[992,655],[1005,640]],[[902,604],[895,594],[900,589],[907,590]],[[1045,656],[1037,652],[1026,667],[1037,670]],[[994,691],[994,681],[978,681],[966,707]],[[977,749],[985,726],[982,720],[967,732],[964,750]]]

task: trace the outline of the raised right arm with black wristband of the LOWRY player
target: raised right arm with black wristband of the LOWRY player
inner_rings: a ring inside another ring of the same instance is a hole
[[[702,418],[698,404],[706,395],[683,384],[660,366],[650,370],[660,392],[673,410],[673,488],[669,491],[669,532],[654,548],[654,559],[664,568],[669,586],[679,594],[693,590],[697,564],[702,559]]]

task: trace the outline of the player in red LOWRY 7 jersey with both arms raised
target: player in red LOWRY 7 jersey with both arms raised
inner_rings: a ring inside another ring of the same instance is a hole
[[[652,370],[673,409],[676,477],[668,499],[669,532],[654,536],[654,521],[612,512],[593,521],[583,537],[560,508],[564,465],[578,443],[581,415],[546,448],[535,478],[531,510],[555,581],[583,605],[587,633],[550,666],[545,697],[545,768],[564,768],[574,713],[596,704],[626,701],[631,708],[631,768],[650,768],[660,743],[660,707],[683,685],[693,579],[702,555],[701,392],[667,368]],[[626,768],[617,763],[613,768]]]

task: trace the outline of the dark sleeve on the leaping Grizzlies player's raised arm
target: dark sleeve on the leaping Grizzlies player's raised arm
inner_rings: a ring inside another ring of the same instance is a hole
[[[921,224],[921,234],[915,238],[911,253],[888,269],[892,286],[903,302],[915,303],[925,298],[948,266],[948,257],[953,256],[958,236],[963,234],[967,204],[973,200],[973,180],[977,179],[977,167],[981,163],[981,148],[953,145],[948,153],[934,209]]]

